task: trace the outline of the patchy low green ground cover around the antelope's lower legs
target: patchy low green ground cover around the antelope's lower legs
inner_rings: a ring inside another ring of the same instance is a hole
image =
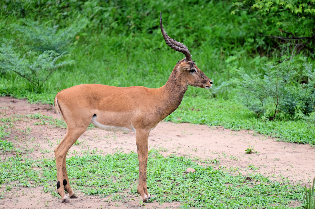
[[[184,174],[187,167],[197,172]],[[137,194],[136,153],[73,156],[67,158],[67,168],[72,188],[86,195],[105,197],[129,189]],[[304,195],[302,187],[289,185],[286,181],[273,182],[261,174],[231,175],[184,157],[163,157],[157,150],[149,152],[147,173],[153,200],[160,203],[180,201],[182,208],[289,208],[289,201],[301,201]],[[3,177],[1,185],[9,182],[24,187],[44,185],[46,192],[58,196],[54,159],[3,158],[0,175]],[[245,180],[246,177],[252,181]]]

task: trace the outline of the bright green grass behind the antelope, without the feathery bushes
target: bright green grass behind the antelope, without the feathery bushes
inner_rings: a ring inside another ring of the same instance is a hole
[[[24,25],[20,20],[25,18],[23,15],[27,14],[28,20],[38,20],[44,27],[58,24],[60,30],[75,25],[74,21],[77,20],[90,21],[81,31],[68,37],[70,41],[66,46],[61,46],[69,52],[69,57],[65,59],[74,59],[75,64],[54,71],[44,83],[43,91],[38,93],[28,81],[7,72],[0,73],[0,95],[27,98],[31,103],[53,104],[58,91],[82,83],[119,87],[163,86],[176,62],[184,55],[165,44],[158,27],[159,12],[162,11],[165,30],[171,37],[186,44],[192,59],[214,83],[211,90],[190,87],[179,109],[167,117],[167,121],[220,125],[233,130],[252,129],[288,142],[315,144],[315,133],[313,130],[308,132],[305,121],[257,119],[240,104],[237,98],[238,84],[225,86],[226,81],[239,76],[237,68],[243,68],[248,74],[257,74],[263,72],[262,67],[267,62],[283,61],[277,54],[280,49],[264,48],[264,43],[270,40],[255,35],[266,32],[253,27],[258,20],[245,11],[231,15],[232,3],[226,1],[191,2],[190,7],[180,7],[178,10],[173,9],[175,5],[182,4],[177,1],[145,2],[136,1],[132,5],[128,2],[121,5],[110,2],[106,5],[89,1],[84,8],[80,4],[82,2],[52,4],[49,5],[49,13],[45,3],[41,3],[42,10],[38,10],[34,8],[39,6],[32,2],[21,3],[24,13],[0,14],[3,19],[0,34],[14,40],[20,54],[32,44],[38,44],[15,31],[16,25]],[[11,11],[21,7],[9,3],[7,8]],[[47,14],[55,14],[55,19]],[[249,38],[253,36],[257,39]],[[281,53],[291,55],[289,48]],[[291,63],[298,60],[298,56],[293,57]],[[308,61],[314,62],[312,59]],[[5,135],[6,132],[2,130],[0,137]]]

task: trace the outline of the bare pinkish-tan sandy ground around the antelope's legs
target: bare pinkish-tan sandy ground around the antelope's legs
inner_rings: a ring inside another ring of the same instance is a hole
[[[59,118],[52,105],[29,104],[26,100],[0,97],[0,117],[25,116],[41,113],[45,116]],[[49,125],[35,126],[31,119],[17,121],[11,130],[8,141],[19,147],[32,147],[27,157],[54,158],[54,147],[66,133],[64,128],[51,128]],[[21,130],[31,128],[27,135]],[[30,140],[31,139],[31,140]],[[28,140],[26,142],[26,140]],[[72,146],[74,151],[103,150],[103,154],[115,153],[117,150],[129,153],[136,151],[135,133],[108,132],[93,128],[86,131],[79,139],[79,146]],[[51,146],[51,143],[54,145]],[[292,184],[306,183],[315,176],[315,152],[308,144],[292,144],[279,142],[276,139],[255,134],[253,131],[232,131],[223,127],[208,127],[189,123],[175,124],[160,122],[149,136],[149,149],[160,150],[164,156],[175,154],[194,159],[196,162],[216,159],[219,163],[214,167],[227,171],[248,173],[259,172],[271,179],[289,179]],[[245,154],[247,148],[253,148],[257,154]],[[46,150],[43,152],[43,150]],[[0,158],[10,156],[0,154]],[[202,164],[202,163],[201,163]],[[150,175],[150,174],[148,174]],[[1,208],[177,208],[179,202],[140,203],[139,195],[131,195],[126,191],[126,198],[120,202],[111,201],[110,197],[88,196],[76,192],[77,199],[70,199],[69,204],[61,204],[61,199],[44,193],[43,188],[22,188],[13,186],[5,191],[6,185],[0,188],[3,199]],[[298,205],[296,205],[298,206]]]

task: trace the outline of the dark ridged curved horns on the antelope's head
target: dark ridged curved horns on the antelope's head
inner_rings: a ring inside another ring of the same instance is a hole
[[[160,27],[161,27],[161,32],[162,32],[163,38],[164,38],[165,42],[167,43],[167,45],[169,45],[169,47],[174,49],[175,51],[183,53],[186,56],[187,62],[192,60],[192,55],[190,55],[188,48],[184,44],[170,38],[167,35],[167,33],[165,32],[164,27],[162,25],[162,12],[160,12]]]

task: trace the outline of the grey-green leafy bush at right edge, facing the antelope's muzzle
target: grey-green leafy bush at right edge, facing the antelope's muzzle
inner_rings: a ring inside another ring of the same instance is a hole
[[[315,70],[312,64],[288,65],[288,62],[268,64],[263,68],[264,75],[239,71],[242,79],[240,100],[258,117],[293,119],[297,111],[306,115],[314,111]],[[301,82],[301,78],[306,81]]]

